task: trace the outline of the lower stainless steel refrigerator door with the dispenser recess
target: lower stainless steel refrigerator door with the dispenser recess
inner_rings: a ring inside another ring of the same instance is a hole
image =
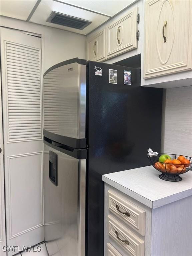
[[[45,241],[49,255],[85,255],[85,161],[45,145]],[[57,165],[57,186],[50,179],[53,164]]]

